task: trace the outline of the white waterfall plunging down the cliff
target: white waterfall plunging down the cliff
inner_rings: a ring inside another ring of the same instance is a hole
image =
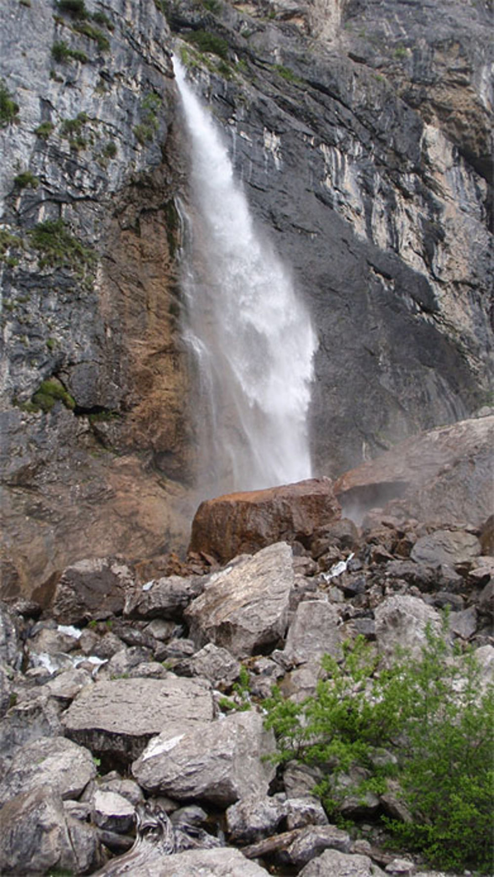
[[[183,337],[194,357],[202,496],[311,477],[307,412],[317,343],[290,275],[257,228],[210,112],[179,61],[190,139]]]

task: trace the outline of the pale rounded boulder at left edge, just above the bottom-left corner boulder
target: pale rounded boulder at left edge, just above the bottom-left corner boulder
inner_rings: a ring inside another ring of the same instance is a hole
[[[33,788],[53,788],[63,799],[78,798],[97,774],[94,759],[65,737],[41,737],[21,746],[0,781],[0,805]]]

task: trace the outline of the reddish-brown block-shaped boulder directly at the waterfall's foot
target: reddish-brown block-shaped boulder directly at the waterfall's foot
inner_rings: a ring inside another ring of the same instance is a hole
[[[308,545],[315,530],[340,516],[329,478],[218,496],[197,509],[189,551],[213,554],[226,563],[274,542]]]

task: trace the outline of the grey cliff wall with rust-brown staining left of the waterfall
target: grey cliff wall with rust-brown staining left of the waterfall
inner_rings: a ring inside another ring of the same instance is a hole
[[[187,531],[169,30],[144,0],[85,11],[2,11],[0,75],[18,107],[0,128],[7,594]]]

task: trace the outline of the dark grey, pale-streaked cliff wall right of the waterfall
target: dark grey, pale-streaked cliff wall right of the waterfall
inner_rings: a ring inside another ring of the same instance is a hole
[[[184,56],[318,328],[315,474],[491,400],[491,11],[171,10],[228,43]]]

